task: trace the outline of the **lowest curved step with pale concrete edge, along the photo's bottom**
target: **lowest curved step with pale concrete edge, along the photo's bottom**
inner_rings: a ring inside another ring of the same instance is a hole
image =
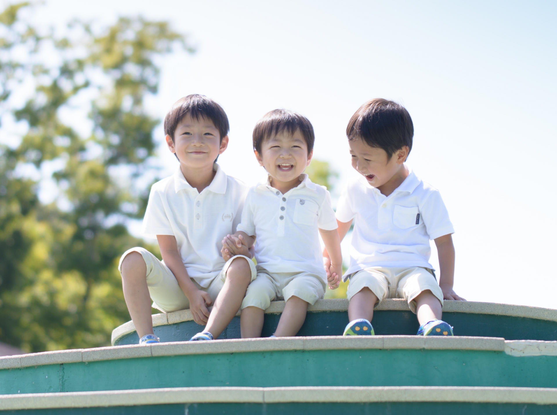
[[[319,404],[327,403],[323,407]],[[333,403],[344,403],[343,406],[333,406]],[[246,413],[274,413],[272,406],[276,405],[282,411],[289,409],[292,414],[308,413],[314,409],[315,413],[359,413],[363,409],[361,404],[368,405],[366,409],[382,407],[382,403],[390,403],[390,409],[434,409],[439,403],[448,408],[461,407],[463,404],[475,403],[476,409],[501,409],[500,413],[509,409],[519,409],[524,413],[524,405],[552,406],[557,408],[557,389],[553,388],[490,388],[490,387],[283,387],[283,388],[164,388],[164,389],[135,389],[126,391],[101,392],[66,392],[41,393],[0,396],[0,410],[13,411],[18,409],[47,409],[47,408],[101,408],[124,407],[119,413],[137,413],[137,407],[157,409],[157,413],[170,413],[169,410],[179,409],[176,413],[211,413],[221,404],[221,409],[250,409]],[[419,407],[399,405],[397,403],[427,403]],[[213,406],[211,406],[213,404]],[[243,404],[242,406],[238,404]],[[246,407],[246,404],[248,406]],[[265,408],[263,407],[265,404]],[[306,405],[302,405],[306,404]],[[307,404],[310,404],[308,406]],[[348,404],[348,405],[347,405]],[[377,405],[379,404],[379,405]],[[491,404],[491,405],[490,405]],[[155,407],[156,406],[156,407]],[[350,411],[354,406],[355,411]],[[127,408],[126,408],[127,407]],[[321,408],[320,408],[321,407]],[[466,407],[466,406],[465,406]],[[468,406],[470,408],[471,406]],[[329,411],[323,412],[323,409]],[[128,411],[126,411],[128,409]],[[319,412],[317,412],[319,409]],[[335,409],[336,412],[332,410]],[[338,412],[343,409],[344,412]],[[470,408],[471,409],[471,408]],[[545,409],[551,409],[545,408]],[[314,412],[311,411],[311,412]],[[358,412],[356,412],[358,411]],[[242,411],[243,412],[243,411]],[[27,412],[26,412],[27,413]],[[37,411],[39,413],[39,411]],[[42,413],[42,412],[41,412]],[[97,413],[80,411],[80,413]],[[213,412],[214,413],[214,412]],[[400,412],[404,413],[404,412]],[[406,412],[408,413],[408,412]],[[426,412],[422,412],[426,413]],[[499,413],[499,412],[490,412]]]

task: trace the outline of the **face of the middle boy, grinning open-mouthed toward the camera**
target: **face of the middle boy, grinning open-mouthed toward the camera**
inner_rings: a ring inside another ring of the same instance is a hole
[[[297,180],[311,161],[307,154],[307,144],[300,130],[294,134],[282,131],[263,140],[261,154],[255,152],[260,166],[265,167],[268,174],[275,180],[290,182]]]

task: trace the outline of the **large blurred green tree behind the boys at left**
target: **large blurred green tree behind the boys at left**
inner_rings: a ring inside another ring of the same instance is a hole
[[[143,216],[148,196],[141,183],[160,121],[144,99],[157,93],[155,60],[192,49],[168,23],[143,18],[40,33],[20,17],[26,7],[0,14],[0,116],[28,126],[17,145],[0,146],[0,339],[30,352],[107,345],[129,320],[119,256],[143,245],[124,223]],[[34,92],[14,108],[24,82]],[[88,137],[60,116],[84,97]],[[21,170],[48,163],[61,166],[52,176],[61,196],[43,205]]]

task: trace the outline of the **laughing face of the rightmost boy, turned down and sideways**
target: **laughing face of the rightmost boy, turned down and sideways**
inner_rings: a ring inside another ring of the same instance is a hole
[[[388,159],[385,150],[370,147],[360,138],[348,140],[348,145],[352,155],[352,167],[373,187],[381,187],[393,179],[403,166],[409,152],[408,147],[404,146]]]

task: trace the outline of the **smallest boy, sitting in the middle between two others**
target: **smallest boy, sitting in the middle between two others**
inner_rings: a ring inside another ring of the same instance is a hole
[[[294,336],[304,324],[308,304],[325,294],[327,274],[319,235],[330,253],[331,288],[338,286],[342,256],[329,192],[311,182],[315,141],[306,117],[292,111],[266,113],[253,130],[253,149],[267,179],[248,191],[236,234],[223,240],[226,260],[255,243],[257,278],[242,301],[242,337],[261,337],[263,312],[272,300],[286,305],[271,337]]]

